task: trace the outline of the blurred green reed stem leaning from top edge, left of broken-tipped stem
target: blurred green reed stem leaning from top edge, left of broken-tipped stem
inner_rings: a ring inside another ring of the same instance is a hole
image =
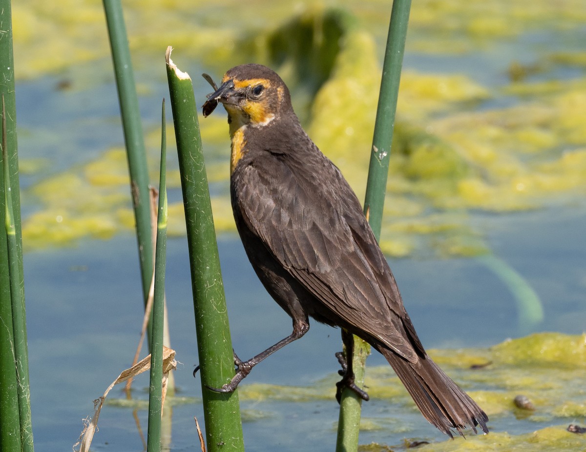
[[[151,287],[153,270],[153,246],[151,213],[148,190],[148,166],[145,153],[145,144],[142,134],[141,115],[138,108],[137,90],[134,84],[134,73],[128,48],[128,38],[124,15],[120,0],[103,0],[108,36],[114,63],[118,100],[122,115],[122,128],[130,172],[130,189],[134,218],[137,227],[138,258],[141,267],[142,293],[145,306]],[[148,341],[150,348],[151,320],[148,327]]]

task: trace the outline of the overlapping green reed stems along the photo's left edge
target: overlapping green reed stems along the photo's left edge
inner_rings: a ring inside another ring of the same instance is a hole
[[[8,222],[8,234],[0,234],[0,450],[32,450],[26,350],[26,313],[22,265],[21,201],[16,140],[16,97],[12,48],[10,0],[0,0],[0,93],[4,98],[2,132],[3,170],[0,170],[0,224]],[[5,187],[9,187],[7,190]],[[7,196],[12,208],[8,208]],[[10,244],[9,244],[10,242]],[[10,248],[9,248],[10,245]],[[15,297],[12,297],[15,293]],[[20,300],[16,297],[20,296]],[[14,319],[13,314],[16,314]],[[18,333],[13,331],[13,321]],[[22,353],[15,355],[15,348]],[[17,365],[20,368],[17,374]],[[21,367],[24,366],[24,368]],[[23,379],[24,378],[24,379]],[[25,384],[25,386],[21,386]],[[20,392],[19,392],[20,391]],[[21,403],[22,402],[22,406]],[[27,408],[28,407],[28,408]],[[22,411],[22,416],[21,416]],[[22,437],[21,437],[22,435]]]

